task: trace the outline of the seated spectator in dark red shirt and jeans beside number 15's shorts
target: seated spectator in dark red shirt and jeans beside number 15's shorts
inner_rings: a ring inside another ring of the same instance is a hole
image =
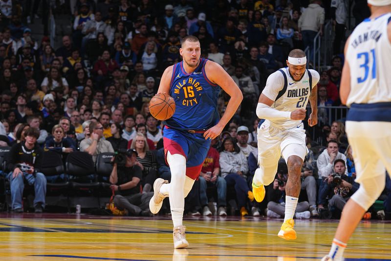
[[[217,143],[217,139],[214,139],[206,155],[205,161],[202,165],[201,172],[199,174],[199,201],[202,207],[202,215],[211,215],[212,212],[208,207],[208,196],[206,190],[208,187],[215,187],[217,189],[217,213],[220,216],[227,215],[226,210],[226,194],[227,194],[227,182],[219,175],[220,155],[218,151],[213,147],[213,144]],[[216,199],[215,199],[216,201]]]

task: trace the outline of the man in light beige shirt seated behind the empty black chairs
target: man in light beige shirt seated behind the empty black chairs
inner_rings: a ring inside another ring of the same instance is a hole
[[[92,156],[95,163],[96,157],[102,152],[114,152],[110,142],[103,138],[103,126],[101,123],[91,122],[88,126],[90,138],[86,138],[80,142],[80,151],[88,152]]]

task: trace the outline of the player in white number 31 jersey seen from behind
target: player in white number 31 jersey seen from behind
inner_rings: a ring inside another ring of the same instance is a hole
[[[345,46],[340,97],[350,106],[346,131],[353,150],[356,182],[323,261],[342,261],[350,236],[384,190],[391,173],[391,0],[368,0],[371,16]]]

